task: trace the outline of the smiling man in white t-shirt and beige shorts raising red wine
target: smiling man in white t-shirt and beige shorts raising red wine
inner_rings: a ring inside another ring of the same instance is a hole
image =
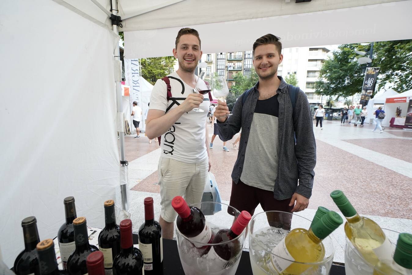
[[[210,101],[194,89],[197,81],[203,81],[194,75],[202,56],[197,30],[179,30],[173,55],[178,59],[179,69],[168,75],[171,98],[168,101],[166,82],[158,79],[146,120],[147,137],[162,136],[158,167],[162,207],[159,223],[166,239],[173,238],[173,221],[177,216],[171,200],[184,196],[189,205],[200,203],[210,170],[206,132]],[[196,112],[194,108],[204,112]]]

